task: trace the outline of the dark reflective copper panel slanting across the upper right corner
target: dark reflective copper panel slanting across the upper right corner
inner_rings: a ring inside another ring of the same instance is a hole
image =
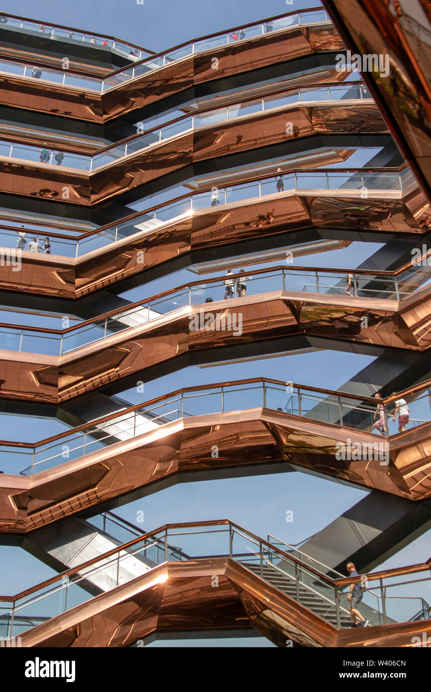
[[[429,0],[323,0],[356,55],[387,56],[389,75],[363,77],[416,177],[431,199]]]

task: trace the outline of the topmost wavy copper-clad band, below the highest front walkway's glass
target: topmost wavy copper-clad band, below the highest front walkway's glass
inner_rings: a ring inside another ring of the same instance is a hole
[[[107,122],[196,84],[337,50],[344,50],[344,44],[333,26],[321,26],[321,23],[314,27],[295,26],[237,44],[214,46],[205,53],[189,55],[160,69],[149,70],[102,93],[53,84],[43,78],[0,75],[0,98],[12,108],[55,113],[86,122]],[[217,70],[212,67],[213,57],[219,60]]]

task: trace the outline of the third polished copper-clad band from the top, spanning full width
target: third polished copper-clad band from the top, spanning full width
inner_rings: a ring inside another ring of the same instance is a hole
[[[337,228],[347,238],[364,229],[421,236],[427,232],[424,222],[430,214],[425,195],[419,190],[404,197],[400,192],[369,192],[368,199],[360,199],[356,190],[319,194],[276,192],[264,201],[255,198],[197,210],[181,221],[166,221],[150,233],[136,229],[133,238],[118,240],[77,259],[55,254],[53,234],[54,254],[22,251],[21,271],[14,271],[6,263],[0,266],[0,288],[73,300],[82,298],[118,281],[143,275],[143,271],[178,256],[259,239],[259,215],[268,211],[273,220],[265,226],[265,235],[279,236],[283,243],[288,242],[287,234],[309,228]]]

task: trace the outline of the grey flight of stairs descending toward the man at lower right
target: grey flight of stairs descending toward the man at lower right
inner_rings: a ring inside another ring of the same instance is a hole
[[[260,566],[259,565],[253,565],[250,563],[244,563],[241,562],[241,565],[244,565],[244,567],[247,567],[250,572],[253,572],[257,576],[260,576]],[[263,578],[265,581],[268,581],[268,583],[272,584],[275,586],[275,588],[279,589],[279,591],[282,591],[286,596],[290,597],[294,601],[296,601],[296,586],[295,586],[295,581],[291,579],[288,574],[285,572],[281,572],[280,570],[277,570],[275,567],[272,565],[269,565],[268,563],[264,565],[263,568]],[[304,608],[307,608],[308,610],[311,610],[311,612],[315,613],[316,615],[320,615],[320,617],[324,618],[327,622],[331,623],[334,627],[337,626],[337,615],[336,615],[336,607],[333,605],[333,603],[330,603],[329,601],[325,601],[324,598],[313,592],[310,588],[308,588],[306,585],[301,583],[300,585],[300,605],[303,605]],[[348,612],[346,612],[345,606],[340,607],[340,625],[341,627],[351,627],[352,625],[352,620]]]

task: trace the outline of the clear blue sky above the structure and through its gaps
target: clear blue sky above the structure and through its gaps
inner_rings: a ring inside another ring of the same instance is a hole
[[[89,3],[75,0],[59,3],[39,0],[37,4],[24,0],[5,0],[1,9],[41,21],[58,22],[98,33],[115,35],[154,51],[175,46],[201,35],[231,26],[258,21],[271,15],[299,10],[318,3],[295,0],[286,5],[282,0],[145,0],[143,6],[134,0],[119,3],[104,0]],[[356,248],[356,249],[355,249]],[[356,266],[378,246],[358,246],[331,255],[312,255],[300,258],[297,264],[327,264]],[[167,288],[195,280],[195,275],[182,271],[163,280]],[[139,300],[160,289],[162,282],[140,287],[128,295]],[[19,321],[19,320],[17,320]],[[336,389],[361,370],[372,358],[357,354],[318,352],[285,358],[270,358],[253,363],[199,369],[188,368],[145,385],[145,394],[129,393],[132,402],[145,401],[159,394],[192,383],[217,382],[250,376],[268,376],[293,380],[309,385]],[[126,393],[125,398],[128,397]],[[57,421],[0,417],[3,439],[36,440],[63,429]],[[153,529],[169,521],[230,518],[260,536],[270,533],[288,543],[310,536],[326,526],[340,513],[358,502],[363,491],[300,473],[178,484],[147,498],[129,504],[118,511],[132,522],[136,513],[145,513],[145,527]],[[293,511],[293,522],[286,523],[286,511]],[[430,532],[417,539],[391,558],[387,566],[421,562],[429,557]],[[10,594],[48,578],[53,572],[24,550],[0,547],[0,592]],[[227,640],[225,646],[268,646],[264,639]],[[176,644],[176,643],[174,643]],[[172,646],[172,642],[152,646]],[[199,642],[182,641],[178,645],[196,646]],[[205,644],[205,642],[200,642]],[[216,642],[223,645],[223,642]],[[213,645],[212,642],[209,643]]]

